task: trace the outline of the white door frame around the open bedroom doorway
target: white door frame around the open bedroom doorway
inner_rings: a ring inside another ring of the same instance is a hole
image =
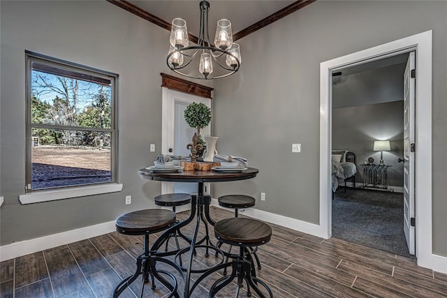
[[[332,236],[332,70],[416,50],[415,173],[416,257],[432,262],[432,30],[347,54],[320,64],[320,235]]]

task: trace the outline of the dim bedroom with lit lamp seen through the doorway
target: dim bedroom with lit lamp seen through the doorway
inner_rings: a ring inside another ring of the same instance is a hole
[[[406,52],[332,71],[332,237],[413,258],[404,234],[399,162],[408,57]]]

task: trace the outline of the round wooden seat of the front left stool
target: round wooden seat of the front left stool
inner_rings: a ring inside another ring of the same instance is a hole
[[[166,209],[133,211],[117,218],[117,232],[129,235],[152,234],[175,223],[175,212]]]

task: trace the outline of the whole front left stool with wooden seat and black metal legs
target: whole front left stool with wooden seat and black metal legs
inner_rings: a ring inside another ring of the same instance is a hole
[[[117,285],[112,293],[112,297],[118,297],[124,290],[126,290],[138,276],[142,275],[142,284],[140,289],[140,297],[144,292],[145,283],[149,281],[149,275],[151,276],[152,290],[155,289],[154,276],[166,288],[170,290],[169,297],[179,297],[177,294],[177,280],[173,274],[168,271],[156,270],[156,262],[165,262],[168,265],[177,269],[176,265],[165,258],[156,256],[156,251],[149,251],[149,234],[161,232],[166,230],[171,225],[175,224],[175,212],[166,209],[145,209],[139,211],[133,211],[128,214],[119,216],[115,221],[117,232],[126,235],[144,235],[144,253],[138,256],[136,260],[137,268],[135,274],[124,278],[124,280]],[[177,269],[178,270],[178,269]],[[181,273],[181,271],[179,271]],[[166,274],[172,281],[170,284],[165,278],[160,276],[159,273]]]

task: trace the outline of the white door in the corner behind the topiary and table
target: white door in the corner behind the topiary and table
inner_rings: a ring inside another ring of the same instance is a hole
[[[210,98],[193,96],[183,92],[162,87],[163,89],[163,119],[162,119],[162,140],[161,152],[175,156],[189,156],[191,152],[186,149],[186,144],[192,142],[192,137],[196,128],[189,127],[184,121],[184,110],[193,102],[204,103],[211,107]],[[202,136],[211,134],[211,124],[200,130]],[[210,193],[210,185],[204,185],[205,193]],[[196,183],[162,182],[161,193],[197,193]],[[184,208],[177,207],[176,211],[184,211]]]

